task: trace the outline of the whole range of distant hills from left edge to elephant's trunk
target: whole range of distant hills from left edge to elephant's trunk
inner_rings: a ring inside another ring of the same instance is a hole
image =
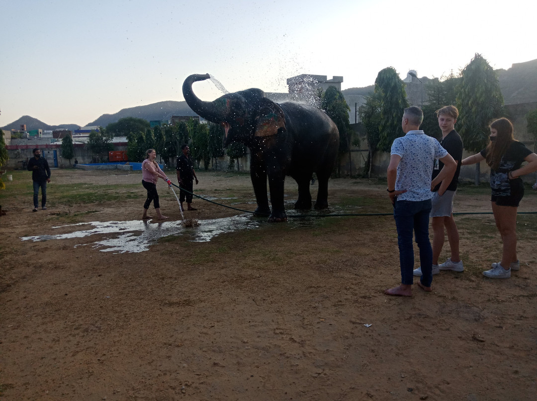
[[[99,125],[100,127],[106,127],[110,123],[115,123],[120,118],[125,117],[136,117],[143,118],[147,121],[153,120],[171,120],[171,116],[195,116],[195,114],[190,107],[186,104],[185,101],[163,101],[158,103],[153,103],[152,105],[146,106],[136,106],[126,109],[121,109],[118,113],[115,114],[103,114],[97,120],[92,121],[86,126]],[[31,116],[22,116],[17,121],[13,121],[11,124],[2,127],[4,130],[18,130],[20,125],[26,124],[26,130],[56,130],[59,128],[66,128],[69,130],[80,129],[78,124],[60,124],[60,125],[48,125],[37,118]]]

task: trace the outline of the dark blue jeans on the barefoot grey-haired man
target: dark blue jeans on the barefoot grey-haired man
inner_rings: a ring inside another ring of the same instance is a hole
[[[422,267],[420,280],[426,287],[433,281],[432,263],[433,251],[429,241],[429,213],[431,199],[412,202],[411,200],[396,200],[394,219],[397,226],[397,244],[399,246],[399,261],[401,264],[401,283],[413,284],[414,249],[412,232],[416,235],[419,248],[419,263]]]

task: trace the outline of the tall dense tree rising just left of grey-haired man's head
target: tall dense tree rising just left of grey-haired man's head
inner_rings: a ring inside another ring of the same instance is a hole
[[[379,71],[375,79],[375,93],[381,96],[379,149],[389,151],[395,138],[404,135],[401,119],[408,107],[404,83],[393,67]]]

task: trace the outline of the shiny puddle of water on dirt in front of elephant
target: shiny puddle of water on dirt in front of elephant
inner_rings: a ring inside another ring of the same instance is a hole
[[[84,238],[94,234],[111,234],[104,240],[91,243],[92,248],[99,249],[103,252],[113,252],[114,254],[122,254],[126,252],[137,253],[149,250],[149,247],[152,244],[155,244],[159,238],[169,235],[185,235],[188,237],[188,241],[208,242],[211,241],[213,237],[223,233],[258,228],[264,222],[264,219],[252,218],[249,214],[222,219],[199,220],[199,226],[188,228],[184,227],[183,221],[162,221],[155,223],[141,220],[91,221],[88,223],[52,227],[53,229],[62,228],[62,231],[65,231],[66,227],[89,225],[93,227],[91,229],[74,231],[67,234],[21,237],[21,240],[39,242]],[[77,244],[75,248],[88,244],[89,243]]]

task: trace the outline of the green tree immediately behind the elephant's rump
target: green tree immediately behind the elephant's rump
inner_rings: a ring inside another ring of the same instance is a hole
[[[341,158],[344,153],[349,152],[351,157],[351,142],[353,131],[349,122],[349,112],[351,108],[347,105],[343,93],[335,86],[329,86],[321,97],[321,108],[332,121],[336,123],[339,131],[339,151],[337,175],[341,175]]]

